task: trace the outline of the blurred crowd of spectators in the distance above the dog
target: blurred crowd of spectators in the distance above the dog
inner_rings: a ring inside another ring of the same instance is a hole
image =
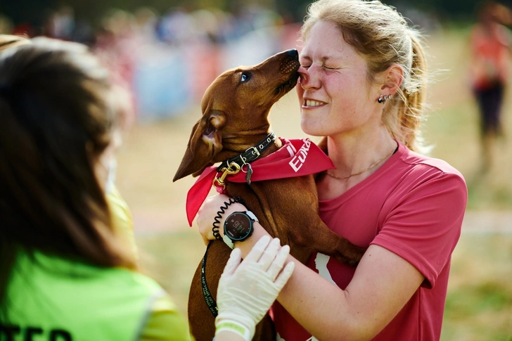
[[[222,71],[260,63],[297,47],[300,23],[276,11],[245,6],[238,13],[219,9],[151,8],[130,13],[112,9],[99,25],[77,20],[63,6],[46,15],[41,27],[13,25],[0,13],[0,33],[44,35],[87,44],[112,72],[115,83],[132,94],[136,121],[177,115],[200,101]]]

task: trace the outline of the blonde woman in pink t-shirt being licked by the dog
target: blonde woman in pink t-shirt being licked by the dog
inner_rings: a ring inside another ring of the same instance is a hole
[[[319,254],[296,262],[272,310],[277,339],[439,340],[468,193],[454,167],[418,153],[428,79],[421,35],[395,8],[363,0],[314,2],[301,33],[301,127],[326,136],[320,145],[336,167],[316,178],[319,214],[368,250],[356,269]],[[201,207],[205,242],[227,200],[213,195]],[[246,210],[229,205],[219,225]],[[243,255],[268,234],[254,226],[234,242]]]

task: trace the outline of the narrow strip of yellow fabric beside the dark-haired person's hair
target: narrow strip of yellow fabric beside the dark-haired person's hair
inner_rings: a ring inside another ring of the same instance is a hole
[[[130,212],[127,203],[124,201],[119,191],[117,191],[117,188],[114,187],[112,191],[107,193],[106,198],[114,231],[118,234],[128,250],[137,258],[138,252],[134,237],[132,212]]]

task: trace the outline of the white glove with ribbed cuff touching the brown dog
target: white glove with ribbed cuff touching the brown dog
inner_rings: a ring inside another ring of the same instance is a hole
[[[256,324],[267,314],[293,272],[293,262],[283,269],[289,253],[288,245],[281,247],[279,239],[271,240],[269,236],[258,240],[243,262],[240,249],[233,249],[217,289],[217,332],[230,330],[252,340]]]

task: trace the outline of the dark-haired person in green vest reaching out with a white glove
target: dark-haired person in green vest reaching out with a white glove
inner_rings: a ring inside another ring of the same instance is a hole
[[[0,339],[190,340],[113,228],[119,101],[108,72],[84,45],[19,41],[0,53]],[[250,340],[293,271],[288,252],[270,238],[243,263],[233,251],[217,340]]]

